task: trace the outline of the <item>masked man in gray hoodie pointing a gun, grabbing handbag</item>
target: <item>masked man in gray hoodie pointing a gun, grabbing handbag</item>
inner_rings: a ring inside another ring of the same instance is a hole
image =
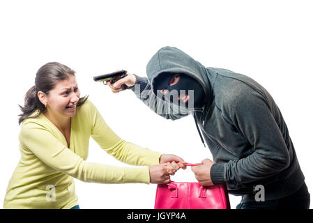
[[[310,207],[287,125],[264,87],[231,70],[206,68],[175,47],[160,49],[146,74],[109,86],[117,93],[128,85],[164,118],[192,114],[214,160],[192,167],[201,185],[227,183],[229,194],[243,197],[237,208]],[[256,188],[264,189],[261,202]]]

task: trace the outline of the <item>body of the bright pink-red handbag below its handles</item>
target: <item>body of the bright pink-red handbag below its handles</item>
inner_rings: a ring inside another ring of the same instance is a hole
[[[227,186],[201,186],[199,183],[171,182],[159,184],[155,209],[230,209]]]

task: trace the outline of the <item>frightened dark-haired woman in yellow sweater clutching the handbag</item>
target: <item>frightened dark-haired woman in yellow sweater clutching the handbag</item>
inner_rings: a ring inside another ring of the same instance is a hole
[[[168,183],[170,174],[185,169],[176,155],[162,155],[119,138],[88,96],[80,98],[75,72],[61,63],[47,63],[38,70],[21,110],[21,159],[3,208],[79,208],[73,178],[93,183]],[[116,159],[149,167],[84,161],[90,137]]]

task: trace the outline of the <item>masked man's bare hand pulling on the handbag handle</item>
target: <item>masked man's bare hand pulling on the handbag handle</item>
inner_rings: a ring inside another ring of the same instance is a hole
[[[211,180],[210,171],[214,162],[209,159],[205,159],[202,160],[201,163],[203,163],[203,165],[191,167],[191,170],[194,172],[196,179],[201,185],[211,186],[213,183]]]

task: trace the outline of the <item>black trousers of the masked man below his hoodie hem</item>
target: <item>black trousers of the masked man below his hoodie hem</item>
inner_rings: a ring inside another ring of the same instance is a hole
[[[282,199],[272,201],[250,201],[239,203],[236,209],[309,209],[310,193],[307,185],[303,183],[294,194]]]

